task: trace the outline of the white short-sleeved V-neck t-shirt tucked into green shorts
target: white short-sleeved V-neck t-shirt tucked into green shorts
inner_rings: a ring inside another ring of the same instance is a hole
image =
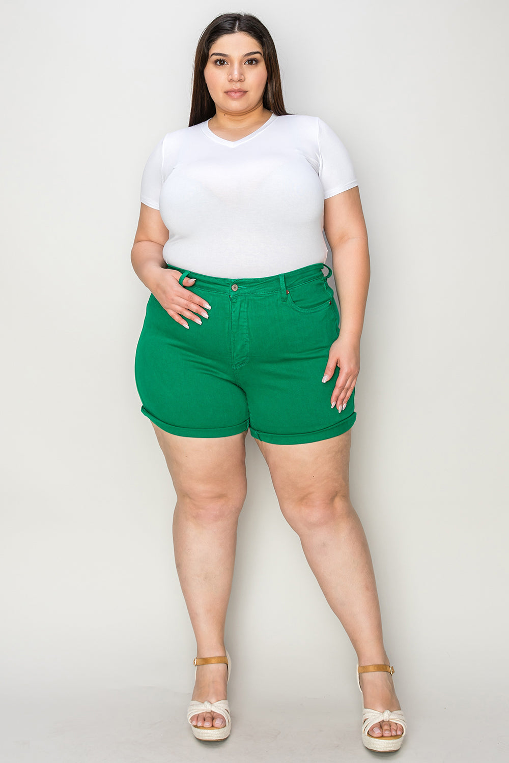
[[[324,199],[359,185],[337,134],[318,117],[272,114],[240,140],[208,120],[168,133],[150,154],[140,200],[169,230],[169,265],[262,278],[325,262]]]

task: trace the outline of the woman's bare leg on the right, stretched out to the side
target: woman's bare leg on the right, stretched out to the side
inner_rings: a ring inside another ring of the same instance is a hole
[[[340,619],[359,665],[388,663],[382,618],[366,535],[350,502],[351,430],[303,445],[256,440],[266,459],[279,506],[298,533],[327,602]],[[388,673],[360,676],[364,707],[400,710]],[[401,734],[395,723],[372,726],[372,736]]]

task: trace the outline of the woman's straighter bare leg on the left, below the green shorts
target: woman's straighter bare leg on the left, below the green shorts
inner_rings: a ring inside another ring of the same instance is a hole
[[[173,516],[176,568],[196,637],[196,655],[226,655],[224,622],[234,574],[237,521],[246,497],[246,433],[182,437],[153,425],[177,494]],[[227,666],[199,665],[193,700],[227,698]],[[192,717],[224,726],[219,713]]]

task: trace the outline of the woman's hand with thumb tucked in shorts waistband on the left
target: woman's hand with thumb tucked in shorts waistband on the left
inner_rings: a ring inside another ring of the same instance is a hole
[[[160,275],[158,274],[155,282],[150,284],[150,291],[169,316],[188,329],[189,324],[184,319],[191,318],[196,324],[201,324],[201,319],[195,313],[208,318],[208,313],[202,308],[208,307],[210,310],[211,306],[205,302],[205,299],[198,297],[194,291],[188,291],[188,288],[185,288],[192,286],[196,278],[189,278],[186,275],[181,286],[179,284],[181,275],[179,270],[161,268]]]

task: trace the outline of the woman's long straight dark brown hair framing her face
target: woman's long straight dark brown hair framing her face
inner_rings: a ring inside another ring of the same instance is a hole
[[[267,69],[267,83],[263,91],[264,108],[277,116],[288,114],[283,102],[278,56],[269,30],[259,18],[250,13],[223,13],[205,27],[196,46],[189,127],[211,119],[216,113],[216,106],[208,92],[203,70],[207,65],[209,51],[214,42],[224,34],[234,34],[234,32],[246,32],[262,49]]]

